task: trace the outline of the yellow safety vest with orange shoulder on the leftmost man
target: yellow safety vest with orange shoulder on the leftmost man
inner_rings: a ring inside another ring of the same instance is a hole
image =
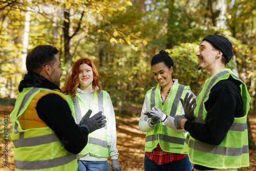
[[[10,114],[15,170],[77,170],[76,155],[65,149],[54,131],[37,115],[36,104],[47,94],[65,99],[65,95],[43,88],[24,88],[17,97]]]

